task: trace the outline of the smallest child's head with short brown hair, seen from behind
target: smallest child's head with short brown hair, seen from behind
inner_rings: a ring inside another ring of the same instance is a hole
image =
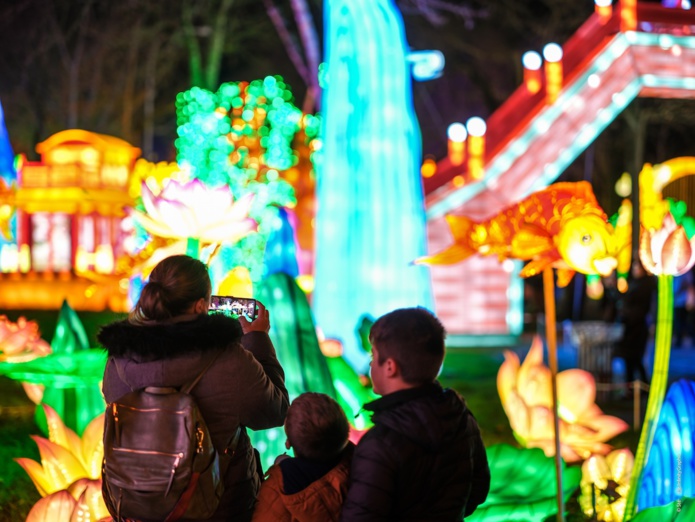
[[[345,412],[324,393],[302,393],[287,410],[285,433],[297,457],[331,459],[347,445],[349,431]]]

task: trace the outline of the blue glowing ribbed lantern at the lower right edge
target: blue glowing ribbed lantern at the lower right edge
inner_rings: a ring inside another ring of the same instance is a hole
[[[668,390],[642,475],[640,511],[695,497],[695,381],[681,379]]]

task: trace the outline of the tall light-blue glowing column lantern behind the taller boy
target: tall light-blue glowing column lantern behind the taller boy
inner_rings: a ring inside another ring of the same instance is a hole
[[[317,178],[313,308],[326,337],[363,370],[358,319],[433,309],[403,21],[390,0],[327,0],[324,158]]]

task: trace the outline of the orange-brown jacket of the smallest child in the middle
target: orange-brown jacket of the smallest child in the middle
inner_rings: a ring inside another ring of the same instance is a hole
[[[337,522],[347,493],[353,450],[305,489],[287,495],[279,464],[268,469],[258,494],[253,522]]]

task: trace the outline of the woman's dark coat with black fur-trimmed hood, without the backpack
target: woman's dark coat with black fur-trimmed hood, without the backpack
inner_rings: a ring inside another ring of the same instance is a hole
[[[245,428],[281,426],[289,406],[284,372],[270,337],[264,332],[242,336],[236,319],[199,315],[147,326],[120,321],[103,327],[98,340],[108,352],[103,381],[107,403],[131,389],[181,387],[207,366],[211,352],[219,352],[191,395],[218,451],[227,446],[238,426],[242,430],[224,477],[224,496],[208,520],[250,520],[262,471],[257,469]]]

